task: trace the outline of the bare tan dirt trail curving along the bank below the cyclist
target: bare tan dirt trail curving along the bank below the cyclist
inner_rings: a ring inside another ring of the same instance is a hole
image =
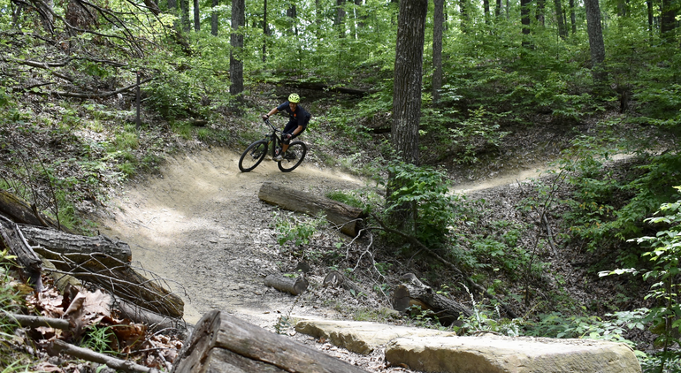
[[[160,177],[129,185],[112,202],[115,211],[101,232],[126,241],[133,260],[169,281],[185,301],[185,320],[196,321],[212,308],[226,310],[268,329],[292,298],[263,285],[281,263],[272,223],[275,208],[260,202],[260,186],[272,181],[323,194],[363,182],[303,164],[279,171],[265,160],[241,173],[239,155],[220,148],[172,157]],[[286,265],[286,264],[284,264]],[[297,313],[332,312],[296,305]]]

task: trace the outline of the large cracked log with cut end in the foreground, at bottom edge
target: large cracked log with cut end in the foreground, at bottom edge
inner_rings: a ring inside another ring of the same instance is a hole
[[[171,373],[241,371],[366,373],[218,310],[205,314],[195,325]]]

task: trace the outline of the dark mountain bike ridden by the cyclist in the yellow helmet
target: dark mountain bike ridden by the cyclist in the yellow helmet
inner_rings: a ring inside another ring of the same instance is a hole
[[[252,171],[258,164],[263,162],[264,156],[272,148],[272,158],[275,156],[277,148],[281,148],[281,130],[270,123],[270,119],[263,119],[264,123],[270,126],[271,133],[265,133],[263,140],[258,140],[249,145],[244,150],[241,158],[239,158],[239,170],[241,172]],[[270,145],[272,144],[272,147]],[[284,154],[284,159],[280,160],[277,165],[279,170],[283,172],[294,171],[296,167],[302,164],[302,160],[308,154],[308,146],[302,141],[291,141],[288,144],[287,152]]]

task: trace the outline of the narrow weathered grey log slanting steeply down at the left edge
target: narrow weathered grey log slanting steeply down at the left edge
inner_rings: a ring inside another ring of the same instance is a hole
[[[7,217],[0,215],[0,238],[4,244],[9,248],[11,255],[17,257],[17,262],[22,268],[22,275],[25,275],[28,284],[31,285],[36,292],[42,291],[42,260],[35,254],[33,247],[30,247],[24,239],[23,234],[14,222]]]

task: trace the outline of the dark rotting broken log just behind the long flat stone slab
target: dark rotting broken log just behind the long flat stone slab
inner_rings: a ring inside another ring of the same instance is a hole
[[[404,281],[393,292],[393,308],[400,312],[408,311],[410,306],[418,306],[424,310],[432,310],[442,324],[452,324],[459,316],[472,316],[471,309],[458,301],[453,301],[432,291],[416,276],[408,273],[402,276]]]

